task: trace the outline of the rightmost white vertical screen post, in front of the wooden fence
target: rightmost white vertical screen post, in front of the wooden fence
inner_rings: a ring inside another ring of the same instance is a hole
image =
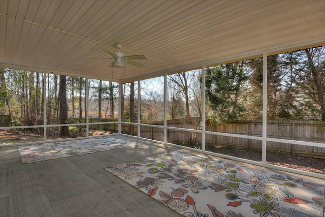
[[[267,56],[263,53],[263,122],[262,122],[262,164],[266,163],[266,137],[267,137]]]

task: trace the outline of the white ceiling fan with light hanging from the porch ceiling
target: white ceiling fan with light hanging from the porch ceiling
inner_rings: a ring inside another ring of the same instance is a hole
[[[115,44],[114,46],[117,48],[116,52],[102,49],[105,52],[109,53],[114,59],[114,61],[112,61],[112,63],[110,64],[110,67],[123,68],[125,63],[136,66],[136,67],[140,67],[140,68],[144,67],[144,65],[139,64],[139,63],[132,61],[130,59],[147,59],[146,56],[144,56],[144,55],[125,56],[124,53],[120,52],[120,49],[122,48],[121,44]]]

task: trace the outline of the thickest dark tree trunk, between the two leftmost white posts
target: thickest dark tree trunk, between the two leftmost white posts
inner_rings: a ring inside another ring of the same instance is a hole
[[[60,124],[68,123],[68,103],[67,103],[67,78],[65,75],[60,75],[59,86],[59,101],[60,101]],[[69,126],[60,127],[61,136],[69,136]]]

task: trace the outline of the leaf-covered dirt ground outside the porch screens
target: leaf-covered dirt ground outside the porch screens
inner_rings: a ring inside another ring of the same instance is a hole
[[[89,134],[106,135],[110,134],[110,131],[90,131]],[[49,137],[50,139],[62,139],[62,137]],[[34,133],[7,129],[0,130],[0,145],[14,144],[14,143],[25,143],[42,141],[43,135],[36,135]],[[262,151],[260,150],[247,150],[232,147],[207,147],[209,151],[216,153],[227,154],[238,158],[248,159],[252,161],[262,162]],[[302,157],[302,156],[291,156],[282,152],[267,152],[266,161],[269,164],[300,169],[304,171],[316,172],[325,174],[325,159]]]

